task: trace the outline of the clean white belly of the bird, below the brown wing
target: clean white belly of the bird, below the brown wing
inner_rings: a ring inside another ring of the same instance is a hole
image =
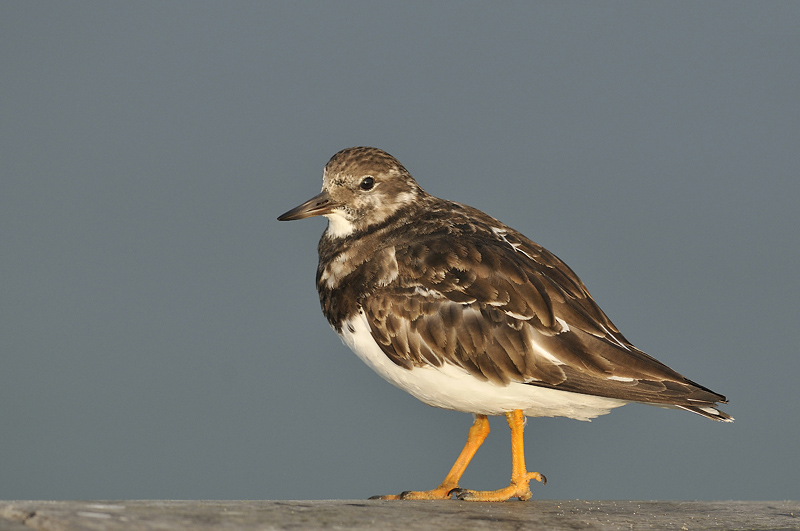
[[[483,415],[502,415],[521,409],[528,417],[590,420],[627,403],[615,398],[569,393],[523,383],[500,386],[479,380],[461,367],[451,364],[405,369],[395,365],[383,353],[369,332],[366,317],[361,313],[345,322],[341,338],[364,363],[389,383],[435,407]]]

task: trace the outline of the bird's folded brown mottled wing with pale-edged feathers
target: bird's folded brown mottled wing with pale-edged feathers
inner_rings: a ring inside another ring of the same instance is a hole
[[[511,229],[493,236],[395,248],[398,275],[364,301],[394,363],[692,410],[725,400],[631,345],[556,256]]]

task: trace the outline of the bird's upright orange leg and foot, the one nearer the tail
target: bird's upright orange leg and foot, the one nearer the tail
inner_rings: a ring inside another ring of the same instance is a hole
[[[522,411],[515,409],[506,413],[508,426],[511,428],[511,483],[508,487],[498,490],[467,490],[456,489],[453,491],[456,498],[467,501],[506,501],[511,498],[529,500],[533,496],[530,481],[544,484],[545,477],[538,472],[528,472],[525,468],[525,444],[523,432],[525,430],[525,416]]]

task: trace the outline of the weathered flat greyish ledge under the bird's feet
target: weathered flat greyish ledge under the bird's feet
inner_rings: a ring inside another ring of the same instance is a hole
[[[0,531],[800,529],[800,502],[0,501]]]

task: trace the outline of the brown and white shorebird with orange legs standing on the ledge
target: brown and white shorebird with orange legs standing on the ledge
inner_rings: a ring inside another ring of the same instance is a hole
[[[715,393],[639,350],[558,257],[484,212],[425,192],[387,152],[339,151],[322,191],[278,217],[325,216],[316,284],[333,330],[384,379],[425,404],[471,413],[442,483],[383,500],[506,501],[546,478],[525,465],[528,417],[590,420],[638,402],[732,422]],[[511,430],[497,490],[460,479],[489,434]]]

